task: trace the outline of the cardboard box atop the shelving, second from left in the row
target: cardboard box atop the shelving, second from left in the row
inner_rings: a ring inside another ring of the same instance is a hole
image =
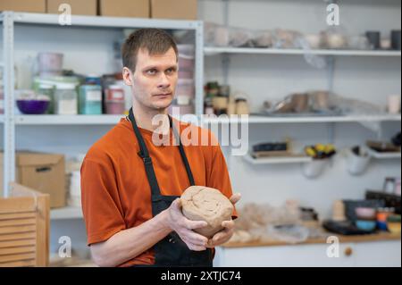
[[[60,14],[60,4],[70,4],[72,15],[96,16],[97,0],[47,0],[46,12]]]

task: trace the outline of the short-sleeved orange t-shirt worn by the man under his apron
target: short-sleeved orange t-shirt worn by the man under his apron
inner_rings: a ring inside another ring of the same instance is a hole
[[[179,121],[173,120],[178,130]],[[180,122],[180,134],[187,127],[208,135],[214,145],[184,146],[196,185],[232,195],[229,173],[221,147],[209,130]],[[181,196],[190,184],[177,146],[155,146],[152,131],[139,128],[152,157],[155,175],[162,195]],[[184,136],[184,135],[183,135]],[[172,131],[170,134],[172,142]],[[81,166],[82,210],[88,233],[88,245],[110,239],[119,231],[130,229],[152,219],[151,189],[143,160],[138,156],[138,141],[131,122],[121,121],[100,138],[89,150]],[[233,213],[236,216],[236,212]],[[152,248],[121,264],[155,264]]]

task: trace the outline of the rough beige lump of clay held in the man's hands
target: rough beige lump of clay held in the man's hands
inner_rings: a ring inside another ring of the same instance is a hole
[[[191,221],[205,221],[205,228],[197,229],[208,239],[221,231],[222,222],[230,221],[233,205],[221,191],[204,186],[191,186],[181,196],[183,214]]]

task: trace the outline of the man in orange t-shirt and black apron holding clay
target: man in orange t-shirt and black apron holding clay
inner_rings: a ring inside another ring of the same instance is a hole
[[[206,222],[189,221],[178,197],[192,185],[219,189],[233,205],[239,194],[232,196],[218,144],[184,147],[177,139],[183,123],[170,117],[167,128],[152,123],[156,115],[167,117],[172,104],[177,46],[161,29],[140,29],[124,43],[122,59],[123,80],[132,91],[130,116],[89,149],[81,167],[82,209],[93,259],[100,266],[212,266],[213,247],[230,239],[234,223],[223,222],[224,229],[208,240],[193,231]],[[211,136],[208,130],[186,127]],[[155,145],[161,136],[172,144]]]

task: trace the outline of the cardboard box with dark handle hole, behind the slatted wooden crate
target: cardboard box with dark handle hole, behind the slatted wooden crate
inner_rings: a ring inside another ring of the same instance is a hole
[[[19,152],[18,182],[50,195],[50,207],[66,205],[64,155]]]

